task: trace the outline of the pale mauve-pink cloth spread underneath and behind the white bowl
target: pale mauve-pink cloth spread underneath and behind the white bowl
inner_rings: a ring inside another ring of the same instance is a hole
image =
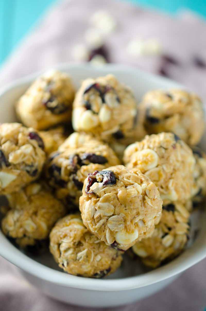
[[[1,68],[0,86],[56,63],[73,61],[71,51],[74,45],[85,42],[90,17],[100,9],[110,12],[117,23],[116,30],[105,40],[111,62],[161,73],[197,91],[203,98],[206,96],[205,21],[190,12],[174,18],[111,0],[66,0],[52,7]],[[156,38],[162,54],[132,57],[126,46],[135,37]],[[206,307],[205,270],[206,260],[203,260],[161,292],[118,310],[203,310]],[[0,258],[0,273],[0,310],[89,310],[44,296],[3,258]]]

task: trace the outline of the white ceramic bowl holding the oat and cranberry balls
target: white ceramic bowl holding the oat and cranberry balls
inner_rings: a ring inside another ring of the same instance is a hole
[[[120,65],[61,64],[57,69],[68,72],[78,87],[87,77],[98,77],[113,73],[125,84],[132,87],[137,99],[148,90],[155,88],[181,87],[176,82],[157,77],[137,68]],[[18,80],[0,91],[0,122],[14,122],[14,103],[38,74]],[[203,147],[206,146],[204,137]],[[129,304],[161,290],[171,283],[180,272],[206,257],[206,214],[201,217],[201,230],[194,244],[165,266],[152,271],[136,261],[126,259],[123,266],[106,279],[90,279],[68,275],[59,270],[51,255],[39,258],[26,256],[15,248],[0,232],[0,255],[21,269],[23,276],[39,290],[66,303],[89,307],[109,307]]]

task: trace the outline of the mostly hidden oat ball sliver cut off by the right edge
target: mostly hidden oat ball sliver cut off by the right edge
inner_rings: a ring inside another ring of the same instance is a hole
[[[194,184],[193,184],[193,205],[199,206],[206,196],[206,154],[198,147],[192,148],[195,167],[194,167]]]

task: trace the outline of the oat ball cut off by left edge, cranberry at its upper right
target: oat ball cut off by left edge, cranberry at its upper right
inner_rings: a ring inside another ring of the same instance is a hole
[[[33,128],[0,124],[0,194],[18,191],[37,179],[45,162],[44,143]]]

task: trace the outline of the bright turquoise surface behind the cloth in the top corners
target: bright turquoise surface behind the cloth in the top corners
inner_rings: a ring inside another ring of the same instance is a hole
[[[86,1],[86,0],[85,0]],[[111,0],[112,1],[112,0]],[[206,17],[206,0],[128,0],[140,6],[176,13],[189,8]],[[0,0],[0,64],[56,0]]]

